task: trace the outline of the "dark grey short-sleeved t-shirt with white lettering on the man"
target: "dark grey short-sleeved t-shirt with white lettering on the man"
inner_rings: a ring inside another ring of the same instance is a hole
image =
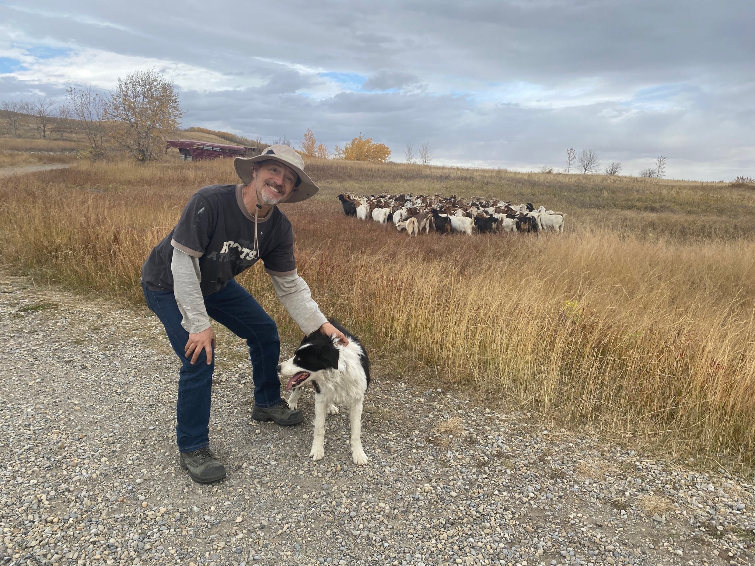
[[[211,185],[194,193],[176,227],[153,248],[142,266],[142,281],[148,288],[173,289],[173,248],[199,257],[203,295],[220,291],[260,259],[270,275],[296,272],[294,230],[277,207],[257,220],[260,257],[255,257],[254,213],[246,209],[241,189],[241,185]]]

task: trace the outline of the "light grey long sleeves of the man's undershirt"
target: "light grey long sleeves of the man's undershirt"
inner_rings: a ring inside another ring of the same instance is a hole
[[[174,248],[171,272],[173,294],[183,316],[181,326],[190,334],[206,330],[210,327],[210,317],[207,315],[205,300],[199,288],[202,281],[199,258]],[[281,304],[304,334],[312,334],[328,321],[313,300],[307,281],[298,274],[270,275],[270,278],[273,279],[273,289],[276,290]]]

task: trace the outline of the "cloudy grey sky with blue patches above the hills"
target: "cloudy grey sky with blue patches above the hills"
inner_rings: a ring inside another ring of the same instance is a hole
[[[752,0],[0,0],[0,100],[155,68],[184,126],[403,161],[534,170],[594,149],[636,174],[755,176]]]

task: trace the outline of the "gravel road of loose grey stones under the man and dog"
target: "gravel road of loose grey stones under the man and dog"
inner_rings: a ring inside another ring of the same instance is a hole
[[[749,564],[751,478],[544,429],[381,374],[368,466],[346,414],[325,459],[256,423],[219,333],[211,439],[228,478],[177,464],[177,361],[146,309],[0,276],[0,564]],[[369,345],[368,345],[369,346]]]

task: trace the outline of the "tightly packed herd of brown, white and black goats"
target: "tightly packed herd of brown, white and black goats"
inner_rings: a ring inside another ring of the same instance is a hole
[[[532,202],[513,206],[497,198],[473,196],[470,201],[434,195],[338,195],[347,216],[371,218],[381,224],[393,222],[399,230],[418,235],[422,230],[464,232],[563,232],[562,212],[535,209]]]

